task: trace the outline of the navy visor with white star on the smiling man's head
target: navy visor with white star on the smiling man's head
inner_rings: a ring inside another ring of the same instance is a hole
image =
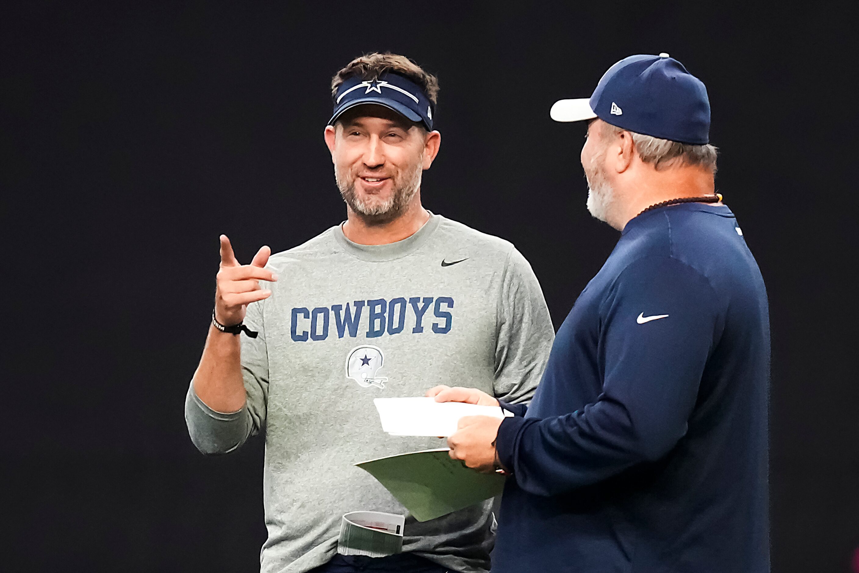
[[[328,120],[328,125],[334,125],[347,109],[364,103],[390,107],[405,118],[423,124],[427,131],[432,131],[436,107],[430,97],[417,83],[391,72],[385,72],[375,80],[362,80],[353,76],[341,83],[334,96],[334,114]]]

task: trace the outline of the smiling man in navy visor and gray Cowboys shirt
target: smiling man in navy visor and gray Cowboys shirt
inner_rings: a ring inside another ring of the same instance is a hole
[[[407,58],[356,58],[333,78],[325,128],[346,221],[283,253],[262,247],[249,265],[221,237],[186,420],[206,454],[265,430],[263,571],[489,570],[490,503],[418,522],[353,466],[439,445],[388,436],[373,399],[467,381],[525,403],[554,337],[509,242],[423,208],[421,176],[441,143],[437,92]],[[340,539],[356,511],[405,515],[402,552],[356,555]]]

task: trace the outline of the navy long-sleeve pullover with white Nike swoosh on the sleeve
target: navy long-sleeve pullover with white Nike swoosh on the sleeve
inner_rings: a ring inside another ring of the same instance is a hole
[[[764,281],[728,207],[632,219],[498,430],[492,571],[768,571],[769,373]]]

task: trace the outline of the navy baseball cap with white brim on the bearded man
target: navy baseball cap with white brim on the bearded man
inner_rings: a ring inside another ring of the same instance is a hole
[[[679,143],[710,143],[704,82],[667,53],[630,56],[612,65],[590,99],[556,101],[555,121],[600,118],[621,129]]]

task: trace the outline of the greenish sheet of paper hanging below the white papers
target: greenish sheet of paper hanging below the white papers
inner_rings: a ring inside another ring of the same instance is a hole
[[[460,460],[451,460],[448,451],[428,449],[355,465],[378,479],[417,521],[436,519],[501,494],[503,475],[472,470]]]

